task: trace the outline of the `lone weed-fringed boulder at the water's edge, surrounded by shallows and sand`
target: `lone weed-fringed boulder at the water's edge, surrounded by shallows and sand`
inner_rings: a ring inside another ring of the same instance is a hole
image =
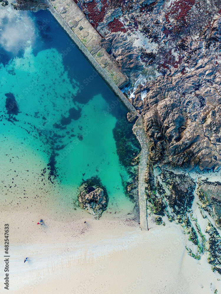
[[[82,183],[78,201],[81,208],[93,215],[101,215],[108,205],[105,187],[98,178],[91,178]]]

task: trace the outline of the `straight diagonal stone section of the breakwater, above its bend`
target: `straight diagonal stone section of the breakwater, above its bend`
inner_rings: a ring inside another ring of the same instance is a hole
[[[127,78],[121,73],[116,63],[111,60],[106,50],[100,46],[100,35],[80,11],[77,4],[73,0],[68,0],[65,4],[61,0],[46,0],[46,2],[49,6],[48,9],[62,29],[70,36],[121,103],[129,112],[138,113],[119,89],[128,83]]]

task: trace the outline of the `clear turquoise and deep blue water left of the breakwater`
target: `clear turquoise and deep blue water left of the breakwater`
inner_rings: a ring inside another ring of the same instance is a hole
[[[75,207],[81,182],[98,176],[108,207],[132,209],[122,185],[131,174],[119,161],[113,137],[117,121],[129,124],[126,109],[49,12],[26,18],[34,34],[22,40],[21,50],[1,47],[2,200],[16,206],[31,193]],[[15,98],[17,114],[7,113],[6,96]]]

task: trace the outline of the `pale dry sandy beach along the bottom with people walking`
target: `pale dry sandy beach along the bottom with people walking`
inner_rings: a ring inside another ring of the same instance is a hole
[[[221,290],[206,256],[191,258],[186,235],[175,223],[149,219],[142,232],[128,216],[107,212],[95,220],[85,211],[60,220],[35,212],[4,211],[9,223],[8,293],[214,293]],[[84,223],[86,221],[86,223]],[[1,243],[2,244],[2,243]],[[3,244],[1,245],[3,252]],[[24,263],[24,258],[29,257]],[[1,269],[3,269],[3,257]],[[1,284],[3,286],[3,271]],[[218,279],[218,280],[217,280]]]

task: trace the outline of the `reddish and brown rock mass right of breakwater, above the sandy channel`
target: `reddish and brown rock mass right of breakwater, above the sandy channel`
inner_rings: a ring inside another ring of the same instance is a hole
[[[161,74],[130,99],[153,142],[150,159],[219,168],[221,1],[75,2],[131,83]]]

